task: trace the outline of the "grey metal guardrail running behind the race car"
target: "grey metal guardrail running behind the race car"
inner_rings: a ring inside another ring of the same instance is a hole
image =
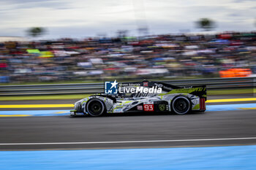
[[[207,85],[208,89],[253,88],[256,77],[165,80],[172,85]],[[0,96],[104,93],[104,83],[0,85]]]

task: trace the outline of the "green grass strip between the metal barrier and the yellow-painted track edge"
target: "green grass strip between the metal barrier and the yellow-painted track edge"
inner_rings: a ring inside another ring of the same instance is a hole
[[[256,93],[256,88],[244,88],[235,90],[208,90],[207,95],[228,95],[228,94],[249,94]],[[80,99],[90,96],[90,94],[70,94],[70,95],[45,95],[45,96],[4,96],[0,101],[23,101],[23,100],[61,100],[61,99]]]

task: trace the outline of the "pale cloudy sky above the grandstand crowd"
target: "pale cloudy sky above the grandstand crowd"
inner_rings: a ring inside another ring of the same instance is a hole
[[[0,36],[26,36],[46,28],[43,38],[198,32],[211,18],[214,31],[255,31],[256,0],[0,0]]]

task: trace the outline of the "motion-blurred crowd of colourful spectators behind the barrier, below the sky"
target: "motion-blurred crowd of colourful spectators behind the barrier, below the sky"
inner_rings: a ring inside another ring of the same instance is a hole
[[[0,82],[219,77],[255,66],[253,32],[0,43]]]

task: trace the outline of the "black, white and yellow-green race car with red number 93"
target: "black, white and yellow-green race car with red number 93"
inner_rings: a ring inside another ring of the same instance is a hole
[[[146,80],[126,82],[119,83],[116,94],[99,93],[75,102],[70,116],[96,117],[125,112],[170,112],[184,115],[194,110],[204,112],[206,99],[206,85],[178,87]]]

